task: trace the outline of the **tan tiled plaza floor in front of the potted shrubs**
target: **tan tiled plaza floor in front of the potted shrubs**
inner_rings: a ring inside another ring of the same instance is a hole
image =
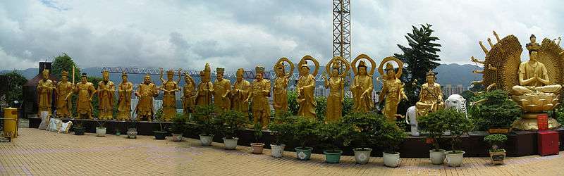
[[[327,164],[319,154],[298,161],[293,152],[272,158],[266,149],[254,155],[247,146],[226,151],[221,143],[204,147],[196,139],[167,138],[75,136],[21,128],[13,142],[0,143],[0,175],[564,175],[562,153],[506,158],[498,166],[489,165],[489,158],[465,158],[460,168],[402,158],[400,168],[386,168],[376,157],[366,165],[355,164],[351,156]]]

